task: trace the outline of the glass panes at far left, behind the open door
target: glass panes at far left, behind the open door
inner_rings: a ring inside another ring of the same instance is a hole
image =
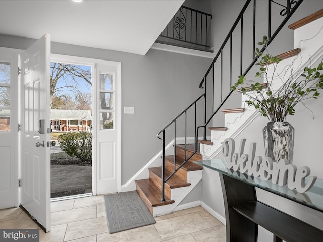
[[[0,132],[10,131],[10,64],[0,62]]]

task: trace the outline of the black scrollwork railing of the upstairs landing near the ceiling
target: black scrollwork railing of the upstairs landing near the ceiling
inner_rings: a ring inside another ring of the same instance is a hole
[[[160,37],[181,41],[186,44],[197,45],[207,49],[209,47],[209,30],[212,15],[185,6],[174,15]]]

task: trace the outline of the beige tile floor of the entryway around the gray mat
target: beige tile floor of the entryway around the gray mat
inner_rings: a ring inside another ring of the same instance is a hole
[[[40,230],[45,242],[225,242],[226,228],[202,207],[156,217],[153,225],[110,234],[103,196],[76,198],[51,203],[51,231]],[[0,210],[0,228],[39,228],[21,208]]]

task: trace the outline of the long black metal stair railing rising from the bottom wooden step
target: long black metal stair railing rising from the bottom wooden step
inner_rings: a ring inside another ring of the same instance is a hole
[[[234,22],[232,28],[230,29],[229,34],[225,38],[223,44],[221,45],[216,57],[213,59],[209,69],[204,75],[202,81],[199,84],[200,88],[204,89],[204,93],[196,99],[187,109],[185,109],[180,115],[178,115],[170,124],[168,124],[163,130],[161,130],[157,137],[163,140],[163,166],[162,166],[162,198],[161,200],[165,201],[165,192],[164,187],[167,180],[169,180],[177,170],[184,165],[196,152],[198,145],[198,135],[199,130],[204,129],[203,132],[203,140],[206,140],[206,128],[213,119],[214,115],[218,113],[218,111],[222,108],[224,103],[229,99],[232,94],[231,86],[233,77],[234,80],[237,79],[239,75],[246,75],[250,69],[256,63],[255,52],[255,42],[256,39],[262,39],[262,36],[266,35],[269,37],[268,45],[274,40],[279,31],[283,28],[283,26],[287,23],[289,18],[295,12],[295,10],[299,7],[299,5],[303,2],[303,0],[284,0],[286,5],[282,4],[283,0],[268,0],[268,5],[260,6],[262,9],[257,7],[256,3],[259,2],[257,0],[247,0],[244,7],[242,8],[238,18]],[[263,4],[264,2],[261,1]],[[283,10],[282,10],[283,8]],[[248,11],[249,18],[245,16],[245,13]],[[264,13],[264,11],[267,11]],[[252,13],[252,17],[250,18],[250,13]],[[264,22],[263,16],[266,16],[266,21]],[[262,18],[262,21],[259,21],[258,18]],[[261,26],[256,26],[256,23],[261,23]],[[247,27],[246,27],[247,26]],[[273,32],[274,30],[274,33]],[[245,34],[244,34],[245,33]],[[248,33],[248,34],[246,34]],[[235,36],[235,38],[233,38]],[[249,51],[247,51],[249,49]],[[264,48],[260,50],[263,52]],[[247,53],[246,53],[247,52]],[[233,53],[235,57],[233,57]],[[227,65],[226,65],[227,63]],[[245,65],[247,63],[247,65]],[[224,82],[226,80],[226,82]],[[224,86],[224,83],[227,85]],[[224,93],[226,91],[227,93]],[[214,108],[214,100],[219,99],[219,105]],[[203,108],[201,110],[196,109],[196,105],[198,102],[203,102]],[[209,104],[211,103],[211,104]],[[186,154],[186,140],[188,125],[186,113],[192,107],[194,110],[194,145],[195,150],[190,157],[185,157],[184,163],[181,164],[180,167],[176,169],[176,140],[179,137],[185,136],[185,154]],[[197,114],[198,113],[198,114]],[[174,133],[174,172],[165,177],[165,142],[166,142],[166,131],[170,129],[173,125],[179,126],[177,124],[177,120],[179,120],[183,115],[185,115],[185,123],[182,124],[184,127],[184,134]],[[201,115],[203,120],[200,121],[202,125],[196,124],[197,115]],[[160,137],[160,134],[163,134],[163,137]]]

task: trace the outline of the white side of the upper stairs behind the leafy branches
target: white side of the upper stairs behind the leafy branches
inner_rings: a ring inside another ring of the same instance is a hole
[[[311,31],[308,33],[308,29],[314,29],[317,31]],[[295,30],[295,40],[294,40],[294,48],[301,48],[301,53],[296,57],[290,57],[280,61],[275,69],[275,76],[281,75],[285,71],[293,70],[293,73],[298,73],[298,71],[303,70],[306,66],[311,66],[311,64],[321,61],[323,58],[323,18],[317,19],[307,25],[304,25]],[[310,36],[309,36],[310,35]],[[303,36],[303,37],[301,37]],[[305,37],[304,37],[305,36]],[[271,71],[270,68],[268,72]],[[273,72],[272,72],[273,73]],[[268,73],[270,74],[270,73]],[[295,75],[295,78],[299,77],[300,74]],[[278,89],[282,85],[276,85],[274,89]],[[233,123],[227,123],[226,127],[227,131],[216,133],[216,131],[211,132],[211,141],[213,145],[205,145],[200,144],[200,153],[205,159],[212,159],[217,156],[221,152],[222,142],[226,138],[236,138],[246,127],[248,127],[254,120],[260,118],[260,114],[258,110],[247,106],[245,103],[247,97],[242,95],[242,107],[246,110],[240,115],[240,117],[236,116],[235,118],[230,118],[230,120],[234,120]],[[227,113],[225,115],[233,115],[232,113]],[[225,120],[227,120],[225,118]]]

